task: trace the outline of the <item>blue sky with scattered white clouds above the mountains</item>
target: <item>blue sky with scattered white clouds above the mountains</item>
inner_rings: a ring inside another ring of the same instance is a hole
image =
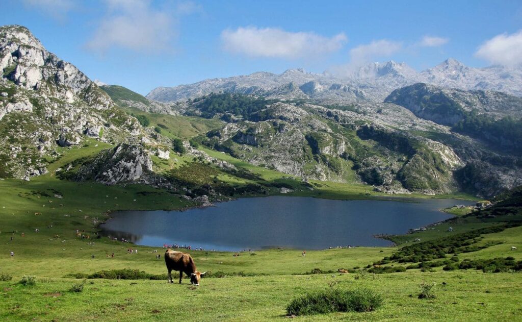
[[[454,57],[522,63],[520,1],[3,1],[0,25],[28,27],[91,79],[147,94],[201,79],[339,72],[393,59],[416,70]]]

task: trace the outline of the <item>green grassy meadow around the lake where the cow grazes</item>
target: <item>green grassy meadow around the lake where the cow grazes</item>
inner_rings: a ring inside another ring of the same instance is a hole
[[[88,142],[84,146],[64,149],[62,156],[53,160],[47,175],[31,181],[0,180],[0,277],[5,279],[0,281],[0,320],[285,320],[286,307],[296,297],[321,290],[355,290],[360,287],[381,294],[384,299],[382,307],[373,312],[305,315],[295,319],[521,320],[520,272],[445,271],[442,265],[429,270],[414,268],[398,273],[366,271],[366,268],[374,267],[374,263],[393,256],[401,247],[416,243],[415,238],[438,240],[473,229],[520,221],[519,207],[506,208],[508,214],[494,217],[458,214],[454,221],[433,226],[425,232],[390,237],[398,244],[396,247],[315,250],[307,251],[306,257],[301,256],[300,250],[292,249],[256,250],[254,255],[244,252],[239,257],[233,257],[230,252],[189,251],[198,270],[210,272],[209,278],[204,278],[199,287],[190,285],[188,279],[184,279],[181,285],[168,284],[166,279],[86,279],[82,291],[74,292],[73,285],[82,283],[82,279],[70,278],[75,274],[81,277],[82,274],[116,269],[136,269],[157,275],[166,273],[163,258],[156,259],[156,254],[163,255],[161,247],[98,238],[97,224],[106,220],[110,212],[175,210],[197,205],[168,191],[143,185],[104,186],[56,178],[55,170],[58,168],[105,147],[109,145]],[[293,195],[334,199],[383,198],[382,194],[362,185],[311,181],[314,190],[306,189],[302,182],[277,171],[244,164],[219,152],[206,152],[258,177],[202,171],[200,175],[208,177],[195,178],[196,181],[211,180],[219,175],[220,180],[237,187],[286,182],[295,188]],[[153,161],[159,171],[171,171],[195,162],[185,156],[174,158],[167,161],[155,158]],[[268,189],[269,194],[279,194],[276,188]],[[250,195],[256,194],[234,197]],[[467,195],[446,197],[469,198]],[[453,232],[448,232],[449,226]],[[84,239],[77,236],[77,229]],[[520,236],[522,226],[482,234],[470,241],[476,249],[459,252],[459,261],[507,257],[520,261]],[[512,251],[512,246],[518,250]],[[138,253],[128,254],[129,247],[138,249]],[[14,252],[13,258],[11,251]],[[450,257],[447,254],[447,259]],[[375,266],[406,268],[410,264],[392,261]],[[349,273],[338,273],[338,269],[346,269]],[[19,283],[23,275],[35,275],[35,285]],[[421,283],[435,283],[435,298],[418,298]]]

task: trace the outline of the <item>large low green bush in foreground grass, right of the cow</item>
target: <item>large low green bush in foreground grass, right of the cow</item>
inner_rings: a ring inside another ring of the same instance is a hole
[[[368,290],[328,289],[295,298],[287,306],[288,315],[333,312],[370,312],[384,303],[382,295]]]

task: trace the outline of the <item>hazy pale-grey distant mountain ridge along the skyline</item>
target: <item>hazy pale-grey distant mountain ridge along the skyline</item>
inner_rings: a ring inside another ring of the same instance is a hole
[[[205,79],[175,87],[157,87],[148,99],[175,102],[225,91],[268,98],[315,99],[321,103],[342,104],[354,101],[383,101],[393,90],[415,83],[464,90],[496,90],[522,96],[522,71],[502,66],[469,67],[447,59],[432,68],[417,72],[405,63],[370,63],[340,77],[307,73],[302,68],[281,74],[256,72],[250,75]]]

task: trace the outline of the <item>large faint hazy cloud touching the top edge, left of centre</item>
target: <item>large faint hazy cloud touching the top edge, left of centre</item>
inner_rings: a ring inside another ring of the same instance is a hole
[[[94,32],[87,48],[105,53],[113,47],[155,53],[171,49],[177,35],[174,14],[158,10],[147,0],[105,0],[107,15]]]

